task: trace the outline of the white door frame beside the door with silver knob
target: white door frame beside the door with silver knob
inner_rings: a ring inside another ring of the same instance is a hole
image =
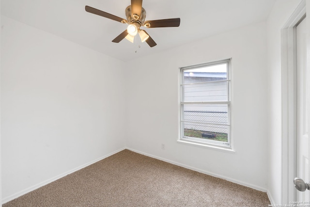
[[[306,15],[302,0],[282,28],[282,203],[296,201],[293,180],[296,176],[296,24]],[[307,181],[308,182],[308,181]]]

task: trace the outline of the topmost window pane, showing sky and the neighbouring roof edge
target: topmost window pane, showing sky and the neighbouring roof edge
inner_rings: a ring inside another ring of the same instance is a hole
[[[184,83],[227,80],[227,63],[183,71]]]

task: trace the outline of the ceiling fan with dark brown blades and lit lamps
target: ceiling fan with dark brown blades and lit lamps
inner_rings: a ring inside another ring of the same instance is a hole
[[[139,33],[141,42],[145,41],[150,47],[154,47],[157,44],[145,30],[140,29],[141,26],[144,26],[146,28],[180,26],[180,18],[145,21],[146,11],[144,10],[144,8],[142,8],[142,0],[131,0],[131,5],[127,6],[127,8],[125,9],[127,19],[111,15],[107,12],[103,12],[90,6],[85,6],[85,10],[86,12],[95,15],[103,16],[124,24],[129,24],[124,32],[122,32],[114,40],[112,40],[112,42],[115,43],[121,42],[124,38],[133,43],[134,37]]]

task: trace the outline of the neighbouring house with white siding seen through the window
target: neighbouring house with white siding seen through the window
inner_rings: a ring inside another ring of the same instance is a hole
[[[227,82],[212,82],[227,80],[226,73],[184,73],[185,83],[190,84],[184,87],[184,101],[226,101]],[[209,81],[209,82],[207,82]],[[228,113],[226,104],[202,105],[188,104],[184,106],[184,120],[194,122],[208,122],[213,124],[228,124]],[[208,132],[228,133],[227,126],[184,123],[184,128]]]

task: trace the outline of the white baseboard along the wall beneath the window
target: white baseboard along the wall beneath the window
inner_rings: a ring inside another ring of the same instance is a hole
[[[226,177],[226,176],[223,176],[223,175],[218,175],[218,174],[215,174],[215,173],[212,173],[212,172],[209,172],[209,171],[205,171],[205,170],[202,170],[202,169],[199,169],[199,168],[195,168],[195,167],[192,167],[192,166],[189,166],[189,165],[186,165],[186,164],[182,164],[180,162],[175,162],[175,161],[172,161],[172,160],[169,160],[169,159],[164,159],[164,158],[161,158],[161,157],[158,157],[158,156],[154,156],[154,155],[151,155],[151,154],[148,154],[148,153],[140,152],[138,150],[131,149],[131,148],[128,148],[128,147],[126,147],[126,149],[128,149],[130,151],[133,151],[133,152],[136,152],[136,153],[139,153],[141,155],[145,155],[145,156],[148,156],[148,157],[151,157],[151,158],[155,158],[155,159],[159,159],[159,160],[162,160],[162,161],[165,161],[165,162],[169,162],[171,164],[178,165],[180,167],[184,167],[184,168],[189,169],[189,170],[193,170],[193,171],[196,171],[196,172],[199,172],[199,173],[203,173],[203,174],[206,174],[206,175],[211,175],[211,176],[214,176],[214,177],[217,177],[217,178],[221,178],[221,179],[224,179],[224,180],[227,180],[227,181],[230,181],[230,182],[242,185],[242,186],[246,186],[246,187],[258,190],[258,191],[267,192],[267,189],[265,189],[265,188],[262,188],[262,187],[256,186],[256,185],[252,185],[250,183],[246,183],[246,182],[243,182],[243,181],[240,181],[240,180],[236,180],[236,179],[233,179],[231,177]]]

